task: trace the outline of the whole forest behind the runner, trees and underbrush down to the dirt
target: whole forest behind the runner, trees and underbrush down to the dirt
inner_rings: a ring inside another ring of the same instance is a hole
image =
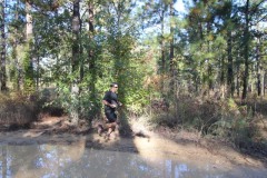
[[[26,123],[49,108],[90,122],[116,81],[125,120],[146,116],[154,129],[267,154],[267,2],[184,4],[1,0],[0,122]]]

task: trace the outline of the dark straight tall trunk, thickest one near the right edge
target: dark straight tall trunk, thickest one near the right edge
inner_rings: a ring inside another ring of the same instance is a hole
[[[249,57],[249,0],[247,0],[246,2],[246,27],[245,27],[245,31],[244,31],[244,58],[245,58],[245,73],[244,73],[244,78],[243,78],[243,100],[247,98],[247,87],[248,87],[248,78],[249,78],[249,72],[248,72],[248,68],[249,68],[249,61],[248,61],[248,57]]]

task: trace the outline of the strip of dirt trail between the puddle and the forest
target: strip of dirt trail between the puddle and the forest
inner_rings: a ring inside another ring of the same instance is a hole
[[[85,122],[81,122],[79,129],[77,129],[65,117],[50,117],[32,123],[31,129],[1,131],[0,144],[70,145],[79,141],[82,137],[86,139],[86,146],[89,148],[138,152],[139,155],[150,155],[155,158],[177,157],[181,161],[209,162],[215,168],[224,165],[227,168],[249,166],[267,169],[266,158],[256,159],[241,155],[224,145],[205,142],[205,140],[192,140],[188,138],[189,134],[186,132],[180,132],[179,139],[170,139],[166,135],[162,136],[150,131],[138,121],[131,122],[131,129],[134,131],[132,137],[123,138],[118,132],[115,132],[107,139],[98,136],[95,129],[88,130],[88,126]]]

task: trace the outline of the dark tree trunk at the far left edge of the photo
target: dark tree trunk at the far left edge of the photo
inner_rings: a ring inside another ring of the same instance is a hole
[[[6,32],[4,32],[4,0],[0,1],[0,30],[1,30],[1,71],[0,71],[0,91],[7,90],[7,71],[6,71]]]

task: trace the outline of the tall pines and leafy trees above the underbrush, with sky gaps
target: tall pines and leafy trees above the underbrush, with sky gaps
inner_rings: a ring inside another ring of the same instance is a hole
[[[55,88],[82,118],[112,81],[128,110],[155,98],[265,95],[265,0],[2,0],[1,92]]]

